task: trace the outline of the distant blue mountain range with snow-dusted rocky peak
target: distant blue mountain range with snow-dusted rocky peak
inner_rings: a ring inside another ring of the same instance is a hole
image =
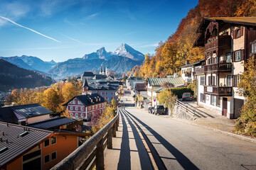
[[[86,54],[81,58],[65,62],[45,62],[38,57],[0,57],[0,59],[16,64],[23,69],[29,69],[53,78],[70,77],[85,71],[99,72],[101,66],[109,67],[110,72],[128,72],[137,64],[142,64],[144,55],[127,44],[120,45],[114,52],[107,52],[101,47],[96,52]]]

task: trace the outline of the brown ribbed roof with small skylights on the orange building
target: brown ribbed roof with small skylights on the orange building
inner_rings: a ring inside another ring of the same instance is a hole
[[[0,122],[0,169],[52,135],[48,130]]]

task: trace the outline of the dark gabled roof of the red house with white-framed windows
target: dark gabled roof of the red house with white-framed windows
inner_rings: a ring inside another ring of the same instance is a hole
[[[100,96],[99,94],[87,94],[87,95],[75,96],[75,97],[71,98],[70,101],[73,101],[74,98],[78,98],[78,100],[81,101],[85,106],[92,106],[97,103],[105,102],[105,99],[102,96]],[[96,98],[97,98],[97,101],[96,101]],[[92,99],[92,101],[91,101],[91,99]],[[67,106],[68,103],[70,103],[70,101],[63,104],[63,106]]]

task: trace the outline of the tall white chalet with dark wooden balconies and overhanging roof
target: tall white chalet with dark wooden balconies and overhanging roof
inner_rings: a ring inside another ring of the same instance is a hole
[[[198,104],[227,118],[240,117],[245,97],[238,93],[238,84],[245,69],[243,63],[250,57],[247,39],[256,40],[256,34],[248,32],[256,23],[243,19],[204,18],[194,43],[205,47],[206,56],[205,65],[196,70]]]

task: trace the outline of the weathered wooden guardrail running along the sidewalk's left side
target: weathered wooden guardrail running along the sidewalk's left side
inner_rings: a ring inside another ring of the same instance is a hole
[[[107,123],[99,132],[75,149],[68,157],[53,166],[51,170],[65,169],[105,169],[104,150],[112,149],[112,137],[116,137],[119,126],[119,108],[117,115]]]

